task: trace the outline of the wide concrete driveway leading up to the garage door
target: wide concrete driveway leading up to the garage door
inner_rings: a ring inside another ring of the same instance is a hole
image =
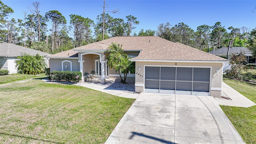
[[[105,144],[244,144],[211,96],[142,93]]]

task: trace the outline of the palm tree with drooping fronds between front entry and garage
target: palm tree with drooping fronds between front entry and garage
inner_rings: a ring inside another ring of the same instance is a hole
[[[126,83],[126,76],[130,70],[130,65],[132,62],[129,60],[127,54],[124,54],[122,45],[112,42],[106,52],[109,52],[108,55],[108,66],[112,70],[115,69],[119,73],[121,82]],[[124,80],[122,79],[121,73],[124,73]]]

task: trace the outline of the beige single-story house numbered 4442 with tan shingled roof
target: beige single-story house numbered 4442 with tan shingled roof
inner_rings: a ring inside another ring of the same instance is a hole
[[[136,92],[221,96],[222,63],[228,60],[157,36],[114,37],[53,54],[46,57],[50,70],[96,71],[102,83],[118,79],[107,66],[106,49],[112,42],[133,57],[128,78],[135,81]]]

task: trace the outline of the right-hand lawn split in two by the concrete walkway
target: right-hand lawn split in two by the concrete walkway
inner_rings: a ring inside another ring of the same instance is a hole
[[[256,103],[256,84],[224,78],[226,84]],[[256,106],[241,108],[220,106],[246,144],[256,144]]]

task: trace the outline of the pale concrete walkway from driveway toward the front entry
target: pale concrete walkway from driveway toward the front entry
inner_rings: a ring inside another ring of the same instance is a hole
[[[111,89],[108,89],[104,86],[99,86],[99,85],[96,85],[96,84],[93,84],[93,83],[83,83],[83,84],[76,84],[76,85],[79,85],[79,86],[83,86],[83,87],[86,87],[86,88],[90,88],[90,89],[93,89],[93,90],[98,90],[98,91],[101,91],[101,92],[105,92],[105,93],[108,93],[108,94],[112,94],[114,96],[120,96],[120,97],[123,97],[123,98],[138,98],[139,94],[132,94],[132,93],[128,93],[128,92],[124,92],[124,91],[120,91],[120,90],[111,90]]]

